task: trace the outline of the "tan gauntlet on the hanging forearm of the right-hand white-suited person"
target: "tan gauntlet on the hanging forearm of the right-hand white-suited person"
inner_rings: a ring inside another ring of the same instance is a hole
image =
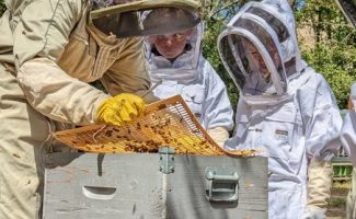
[[[333,185],[333,173],[330,161],[311,159],[308,168],[307,206],[326,209]]]

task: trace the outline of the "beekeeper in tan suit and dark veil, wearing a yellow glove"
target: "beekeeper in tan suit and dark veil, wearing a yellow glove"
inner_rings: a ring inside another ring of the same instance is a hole
[[[142,38],[134,36],[193,27],[199,22],[198,3],[5,0],[5,5],[0,20],[0,218],[35,219],[41,218],[45,153],[58,149],[50,134],[73,125],[120,125],[140,115],[145,101],[139,95],[150,81]],[[138,22],[139,12],[158,8]],[[108,94],[87,83],[97,79]]]

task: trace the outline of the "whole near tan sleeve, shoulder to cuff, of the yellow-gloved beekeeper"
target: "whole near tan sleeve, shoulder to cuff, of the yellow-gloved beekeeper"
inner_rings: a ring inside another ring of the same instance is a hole
[[[65,123],[93,124],[106,94],[68,76],[56,61],[83,14],[82,0],[27,1],[14,30],[18,80],[42,114]]]

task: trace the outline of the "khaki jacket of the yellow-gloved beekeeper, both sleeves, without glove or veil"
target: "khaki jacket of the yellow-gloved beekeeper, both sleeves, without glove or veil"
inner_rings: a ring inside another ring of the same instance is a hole
[[[0,20],[0,61],[14,76],[30,104],[55,120],[95,122],[108,97],[89,85],[100,79],[110,95],[150,87],[141,38],[101,34],[87,24],[88,0],[5,1]]]

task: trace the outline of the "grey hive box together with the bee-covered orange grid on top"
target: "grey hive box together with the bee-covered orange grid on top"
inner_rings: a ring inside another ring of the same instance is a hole
[[[267,159],[223,151],[180,96],[55,137],[89,153],[47,155],[45,219],[267,218]]]

